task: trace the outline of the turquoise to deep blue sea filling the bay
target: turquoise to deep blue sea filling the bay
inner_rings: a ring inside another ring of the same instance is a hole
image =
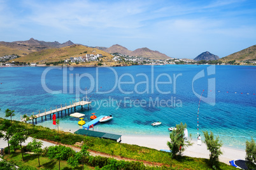
[[[10,108],[15,110],[13,119],[19,121],[20,115],[45,112],[87,96],[90,108],[76,107],[86,122],[92,113],[114,117],[94,130],[168,136],[167,128],[183,122],[194,139],[197,132],[213,131],[225,146],[242,149],[251,136],[256,140],[253,66],[3,67],[0,83],[0,117]],[[62,129],[82,128],[77,118],[59,119]],[[152,127],[156,121],[162,125]],[[41,119],[38,125],[55,128],[52,121]]]

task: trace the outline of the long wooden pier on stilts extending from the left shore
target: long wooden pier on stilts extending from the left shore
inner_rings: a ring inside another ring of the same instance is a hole
[[[83,108],[84,105],[87,105],[87,107],[89,108],[90,103],[92,103],[92,102],[91,101],[77,101],[77,102],[72,101],[72,103],[70,102],[70,105],[67,105],[67,103],[66,103],[66,105],[64,107],[62,107],[62,105],[60,105],[60,108],[57,108],[57,106],[56,106],[55,109],[52,109],[52,107],[51,107],[50,111],[48,111],[48,112],[46,112],[46,109],[45,109],[45,112],[40,113],[40,110],[39,110],[38,114],[34,114],[34,112],[33,112],[32,115],[33,115],[34,118],[32,118],[32,116],[28,116],[28,117],[29,117],[29,120],[32,120],[32,124],[34,124],[34,119],[35,119],[35,121],[37,121],[37,119],[40,118],[40,117],[41,117],[42,122],[43,122],[43,117],[45,117],[45,121],[47,121],[47,117],[46,117],[47,115],[50,115],[49,118],[50,118],[50,120],[52,120],[52,115],[53,114],[57,113],[57,115],[59,117],[59,112],[60,112],[61,117],[62,117],[62,112],[63,111],[65,112],[65,115],[66,115],[67,110],[68,110],[68,114],[69,114],[69,108],[71,109],[71,112],[72,112],[72,108],[75,111],[76,107],[78,107],[78,106],[81,106]],[[56,115],[56,117],[57,117],[57,115]],[[27,120],[26,118],[22,118],[22,115],[20,115],[20,121],[27,122],[29,120]]]

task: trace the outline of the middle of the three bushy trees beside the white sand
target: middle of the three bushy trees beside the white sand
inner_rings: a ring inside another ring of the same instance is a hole
[[[210,131],[210,135],[208,131],[203,131],[204,133],[204,143],[206,143],[207,149],[210,151],[210,165],[213,166],[216,162],[218,162],[218,156],[222,155],[222,151],[220,148],[222,147],[222,141],[219,140],[217,136],[216,140],[214,140],[213,132]]]

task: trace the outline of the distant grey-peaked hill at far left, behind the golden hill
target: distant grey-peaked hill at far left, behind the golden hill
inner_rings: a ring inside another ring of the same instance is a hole
[[[71,41],[67,41],[67,42],[60,44],[57,41],[45,42],[45,41],[38,41],[36,39],[31,38],[27,41],[13,41],[13,42],[0,41],[0,44],[6,46],[8,48],[25,51],[25,53],[32,53],[32,52],[36,52],[36,51],[41,51],[42,49],[62,48],[65,46],[71,46],[74,43]]]

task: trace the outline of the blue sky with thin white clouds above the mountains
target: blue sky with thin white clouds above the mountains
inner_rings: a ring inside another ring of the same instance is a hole
[[[0,0],[0,41],[31,37],[222,58],[256,44],[256,1]]]

